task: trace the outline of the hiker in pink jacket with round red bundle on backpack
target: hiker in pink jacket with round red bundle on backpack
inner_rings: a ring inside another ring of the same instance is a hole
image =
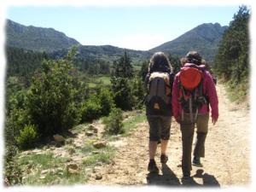
[[[191,153],[196,125],[194,148],[194,166],[201,165],[205,157],[205,141],[208,131],[211,106],[212,124],[218,120],[218,96],[211,74],[201,65],[201,55],[189,51],[187,62],[176,74],[172,87],[172,112],[180,124],[183,143],[182,170],[183,177],[190,177]]]

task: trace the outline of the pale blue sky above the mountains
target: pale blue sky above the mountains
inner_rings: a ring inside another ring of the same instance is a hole
[[[6,17],[29,26],[52,27],[81,44],[151,49],[202,23],[228,26],[238,6],[9,7]]]

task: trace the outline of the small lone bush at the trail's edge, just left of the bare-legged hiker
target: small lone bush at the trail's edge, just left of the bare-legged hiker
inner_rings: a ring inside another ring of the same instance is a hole
[[[103,120],[106,125],[105,131],[109,135],[124,133],[123,112],[120,108],[113,108],[108,118]]]

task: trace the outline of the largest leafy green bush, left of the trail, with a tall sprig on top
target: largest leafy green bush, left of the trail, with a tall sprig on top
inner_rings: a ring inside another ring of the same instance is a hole
[[[33,77],[26,108],[43,137],[67,131],[79,123],[78,106],[83,94],[76,76],[72,55],[68,53],[66,59],[44,61],[40,73]]]

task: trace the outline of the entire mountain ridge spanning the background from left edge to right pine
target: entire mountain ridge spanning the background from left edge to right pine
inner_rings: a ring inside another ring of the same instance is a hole
[[[141,61],[148,59],[150,55],[153,55],[154,52],[157,51],[163,51],[167,55],[178,55],[182,57],[186,55],[189,50],[195,49],[201,53],[201,55],[207,59],[207,61],[212,61],[218,49],[218,42],[222,38],[226,28],[227,26],[220,26],[219,23],[203,23],[199,26],[195,26],[195,28],[189,30],[188,32],[184,32],[182,35],[173,39],[172,41],[160,44],[152,49],[137,50],[119,48],[110,44],[83,45],[80,44],[76,39],[68,38],[65,33],[58,32],[54,28],[24,26],[16,23],[15,21],[8,20],[7,45],[36,51],[54,52],[56,55],[61,56],[64,53],[67,53],[68,48],[74,44],[77,44],[79,45],[80,57],[85,58],[102,56],[102,58],[108,58],[109,61],[113,61],[119,55],[122,55],[124,51],[131,55],[131,57],[135,57],[137,61]],[[32,33],[31,37],[29,38],[32,42],[27,43],[26,38],[22,36],[22,32],[26,33],[27,31]],[[47,32],[49,32],[49,34],[47,34]],[[52,33],[55,33],[55,35]],[[49,40],[50,38],[54,39]],[[60,39],[56,40],[55,38]],[[58,46],[56,46],[56,44],[58,44]]]

